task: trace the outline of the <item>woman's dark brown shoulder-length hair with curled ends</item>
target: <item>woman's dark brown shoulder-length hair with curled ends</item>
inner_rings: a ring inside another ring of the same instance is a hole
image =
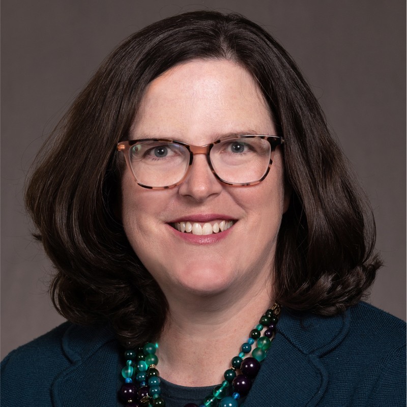
[[[167,302],[118,215],[122,163],[115,145],[126,137],[147,85],[194,59],[246,68],[284,136],[293,194],[277,242],[276,301],[339,313],[361,299],[381,265],[372,256],[371,211],[287,52],[238,14],[176,15],[130,36],[107,57],[43,147],[26,188],[36,236],[56,268],[55,307],[73,323],[108,323],[126,346],[159,335]]]

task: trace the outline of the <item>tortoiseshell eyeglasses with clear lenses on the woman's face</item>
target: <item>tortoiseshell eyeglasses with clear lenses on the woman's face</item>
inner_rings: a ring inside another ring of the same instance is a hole
[[[138,185],[167,189],[188,175],[194,154],[205,154],[214,176],[227,185],[246,186],[263,181],[270,171],[280,136],[243,135],[223,138],[206,146],[191,146],[166,138],[121,141],[128,168]]]

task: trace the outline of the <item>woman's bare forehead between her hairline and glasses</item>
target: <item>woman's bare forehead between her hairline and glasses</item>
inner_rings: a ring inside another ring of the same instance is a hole
[[[223,134],[274,134],[270,110],[251,74],[225,60],[196,60],[153,80],[131,137],[208,143]]]

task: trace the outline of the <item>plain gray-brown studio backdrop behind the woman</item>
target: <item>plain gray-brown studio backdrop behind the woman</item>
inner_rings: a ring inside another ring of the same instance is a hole
[[[374,209],[386,266],[370,301],[405,319],[404,0],[3,0],[2,358],[63,321],[22,203],[36,152],[115,45],[150,22],[200,8],[260,23],[300,65]]]

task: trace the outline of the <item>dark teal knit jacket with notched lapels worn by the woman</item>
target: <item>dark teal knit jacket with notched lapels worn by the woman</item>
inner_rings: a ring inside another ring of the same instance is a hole
[[[405,323],[366,303],[335,317],[283,309],[245,407],[406,405]],[[2,362],[2,407],[116,406],[121,351],[107,328],[65,323]]]

